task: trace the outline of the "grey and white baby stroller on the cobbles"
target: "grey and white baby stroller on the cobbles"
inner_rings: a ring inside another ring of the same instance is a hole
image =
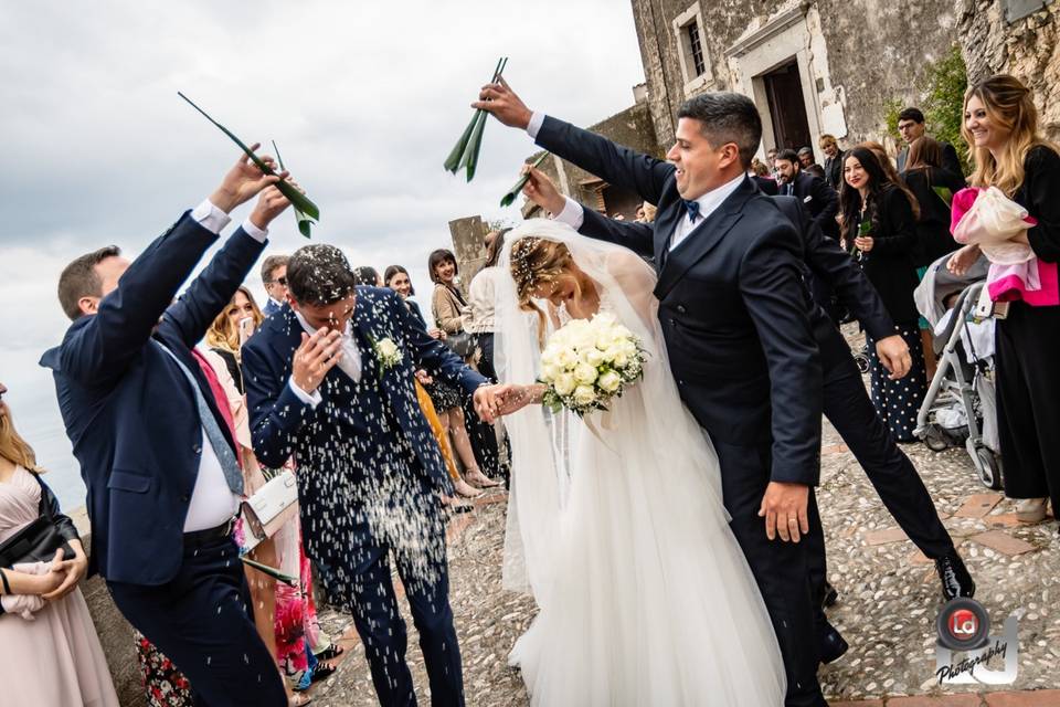
[[[988,262],[963,276],[945,255],[928,268],[914,299],[932,326],[939,368],[916,418],[914,434],[935,452],[963,445],[987,488],[1001,487],[994,389],[994,319],[976,316]]]

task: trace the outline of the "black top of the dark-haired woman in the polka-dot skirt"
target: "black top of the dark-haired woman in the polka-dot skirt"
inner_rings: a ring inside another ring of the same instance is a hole
[[[861,267],[883,299],[888,314],[899,325],[915,323],[920,313],[913,302],[913,291],[919,281],[913,254],[916,250],[916,221],[913,207],[905,193],[888,186],[880,193],[879,203],[870,205],[875,212],[872,250],[866,253]],[[869,212],[866,213],[869,215]],[[851,224],[847,238],[857,235]]]

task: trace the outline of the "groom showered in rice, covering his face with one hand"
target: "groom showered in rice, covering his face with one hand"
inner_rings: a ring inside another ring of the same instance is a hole
[[[307,245],[287,263],[288,303],[243,348],[254,452],[294,455],[306,553],[353,614],[382,705],[414,705],[391,556],[420,632],[434,705],[463,705],[436,494],[452,482],[416,400],[426,369],[491,421],[487,379],[464,365],[390,289],[356,286],[339,249]]]

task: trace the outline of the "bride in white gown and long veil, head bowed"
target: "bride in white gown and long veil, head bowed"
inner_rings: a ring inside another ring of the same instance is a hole
[[[654,271],[554,221],[506,241],[497,368],[521,401],[540,401],[542,344],[570,318],[610,312],[647,352],[644,379],[606,412],[528,405],[506,418],[505,585],[540,609],[509,662],[531,704],[782,705],[780,648],[728,526],[714,451],[670,374]]]

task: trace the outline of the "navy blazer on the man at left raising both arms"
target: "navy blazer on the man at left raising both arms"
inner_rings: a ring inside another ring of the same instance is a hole
[[[88,488],[89,571],[109,581],[162,584],[177,574],[199,476],[203,433],[194,395],[155,339],[195,376],[227,435],[191,348],[265,244],[239,229],[173,303],[216,240],[184,213],[129,265],[98,314],[74,321],[63,342],[41,359],[53,371],[66,434]],[[229,442],[234,449],[234,440]]]

